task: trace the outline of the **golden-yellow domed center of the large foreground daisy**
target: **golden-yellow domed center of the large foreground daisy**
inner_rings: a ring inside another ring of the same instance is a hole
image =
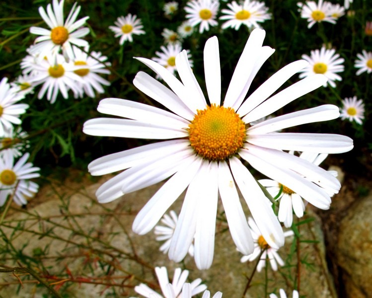
[[[246,139],[244,122],[232,108],[215,104],[198,110],[189,128],[190,145],[210,160],[223,160],[243,147]]]

